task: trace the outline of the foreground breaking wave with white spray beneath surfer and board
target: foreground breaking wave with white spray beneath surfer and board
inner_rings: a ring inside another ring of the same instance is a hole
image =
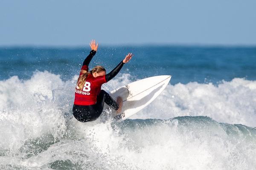
[[[67,122],[64,136],[27,140],[4,168],[125,170],[251,170],[256,166],[256,128],[218,123],[206,116]]]

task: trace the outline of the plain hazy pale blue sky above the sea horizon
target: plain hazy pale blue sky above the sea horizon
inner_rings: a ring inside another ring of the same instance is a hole
[[[0,45],[256,45],[256,0],[1,0]]]

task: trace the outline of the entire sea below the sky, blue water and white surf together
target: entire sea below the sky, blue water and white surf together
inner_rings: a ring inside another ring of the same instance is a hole
[[[105,110],[72,115],[89,48],[0,48],[0,169],[253,170],[256,167],[256,47],[100,47],[90,67],[111,71],[134,58],[106,91],[172,75],[163,93],[123,122]]]

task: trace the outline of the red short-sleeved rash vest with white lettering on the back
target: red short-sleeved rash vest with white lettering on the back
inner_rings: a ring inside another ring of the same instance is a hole
[[[83,65],[81,70],[88,71],[88,66]],[[81,72],[79,77],[81,76]],[[84,87],[79,90],[78,85],[76,85],[75,91],[75,105],[95,105],[97,101],[97,95],[99,95],[101,86],[106,81],[105,75],[93,77],[92,74],[88,74]]]

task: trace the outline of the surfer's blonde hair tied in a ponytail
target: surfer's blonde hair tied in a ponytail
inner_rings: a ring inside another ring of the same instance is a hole
[[[93,74],[94,72],[99,73],[101,71],[106,71],[106,69],[101,65],[96,65],[91,71],[81,70],[81,75],[77,80],[79,90],[81,90],[84,87],[85,80],[89,74]]]

